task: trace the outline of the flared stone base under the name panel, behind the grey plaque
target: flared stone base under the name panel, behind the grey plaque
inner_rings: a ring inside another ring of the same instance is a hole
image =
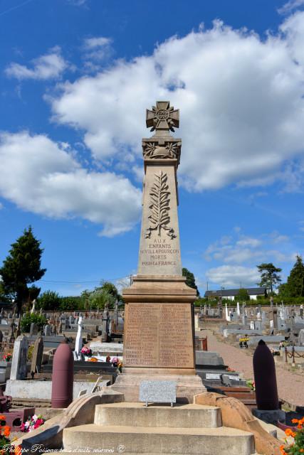
[[[193,403],[194,395],[206,392],[199,375],[118,375],[110,387],[125,395],[126,402],[138,402],[140,397],[140,383],[147,380],[175,381],[177,382],[177,402]]]

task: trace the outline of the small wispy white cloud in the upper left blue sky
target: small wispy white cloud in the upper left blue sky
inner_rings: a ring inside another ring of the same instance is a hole
[[[47,54],[41,55],[32,60],[32,68],[19,63],[11,63],[6,67],[5,73],[10,77],[22,79],[47,80],[60,77],[63,71],[68,68],[68,63],[65,62],[61,55],[61,48],[56,46]]]

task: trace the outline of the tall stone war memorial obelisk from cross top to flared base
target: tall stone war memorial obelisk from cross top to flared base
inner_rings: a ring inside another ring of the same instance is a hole
[[[123,373],[113,388],[126,401],[138,400],[142,380],[177,381],[177,397],[192,401],[205,390],[195,372],[193,303],[196,291],[185,284],[179,247],[177,167],[182,141],[179,110],[167,101],[147,109],[142,139],[145,164],[138,272],[122,292],[125,300]]]

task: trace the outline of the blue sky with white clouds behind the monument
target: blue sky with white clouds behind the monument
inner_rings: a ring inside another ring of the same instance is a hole
[[[28,225],[79,295],[137,272],[145,109],[180,110],[182,266],[283,281],[304,253],[304,0],[0,0],[0,264]]]

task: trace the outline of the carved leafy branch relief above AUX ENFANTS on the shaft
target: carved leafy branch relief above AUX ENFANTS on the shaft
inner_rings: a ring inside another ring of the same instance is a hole
[[[169,217],[169,186],[167,185],[167,173],[159,171],[159,173],[154,174],[154,183],[150,191],[151,204],[150,215],[148,216],[151,221],[151,225],[147,228],[146,238],[150,239],[153,230],[157,230],[158,235],[162,229],[167,230],[167,235],[171,239],[177,237],[174,234],[174,229],[169,228],[168,224],[170,223]]]

